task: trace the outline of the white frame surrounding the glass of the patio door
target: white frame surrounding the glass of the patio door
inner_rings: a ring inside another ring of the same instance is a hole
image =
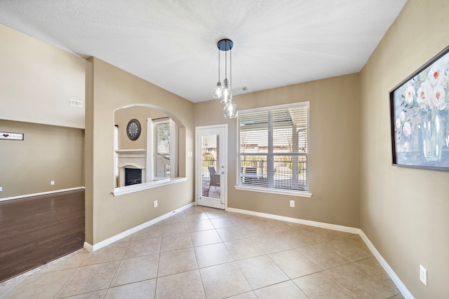
[[[210,134],[220,134],[220,165],[217,165],[217,172],[220,176],[220,207],[218,209],[227,209],[227,124],[222,125],[207,125],[201,127],[195,127],[195,204],[197,205],[203,197],[203,177],[202,177],[202,151],[201,151],[201,139],[200,130],[210,130]],[[206,204],[205,204],[206,205]],[[212,207],[212,206],[210,206]]]

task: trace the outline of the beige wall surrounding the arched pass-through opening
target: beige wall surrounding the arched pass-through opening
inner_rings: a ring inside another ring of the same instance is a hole
[[[86,242],[97,244],[194,201],[194,158],[186,158],[194,150],[194,104],[96,58],[87,64]],[[114,111],[132,105],[159,107],[180,125],[179,173],[187,181],[112,195]]]

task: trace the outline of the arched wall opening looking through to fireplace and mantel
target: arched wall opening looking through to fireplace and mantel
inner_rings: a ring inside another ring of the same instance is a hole
[[[140,135],[128,137],[130,120],[137,120]],[[185,127],[170,111],[133,104],[114,111],[114,186],[149,184],[185,176],[178,155],[185,153]],[[182,161],[185,161],[182,159]]]

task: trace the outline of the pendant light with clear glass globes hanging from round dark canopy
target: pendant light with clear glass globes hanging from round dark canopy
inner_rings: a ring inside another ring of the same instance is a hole
[[[220,99],[221,104],[225,104],[223,113],[225,118],[236,118],[239,110],[237,105],[232,99],[232,47],[234,43],[230,39],[222,39],[218,41],[218,82],[215,87],[215,93],[213,97],[215,99]],[[225,80],[223,85],[220,82],[220,51],[225,52]],[[227,53],[229,51],[229,81],[227,79]]]

